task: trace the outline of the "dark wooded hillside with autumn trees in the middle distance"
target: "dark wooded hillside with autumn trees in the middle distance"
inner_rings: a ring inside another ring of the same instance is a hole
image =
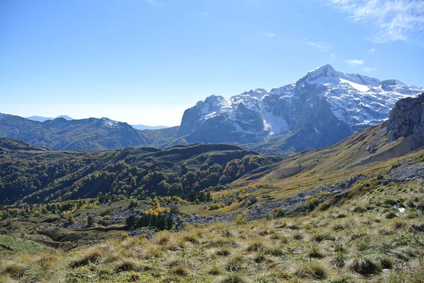
[[[150,195],[155,192],[195,199],[206,188],[223,186],[252,169],[279,160],[235,145],[55,152],[17,147],[20,143],[0,139],[0,145],[8,149],[0,155],[2,204],[95,198],[99,193]],[[227,164],[234,166],[228,165],[235,171],[225,171]]]

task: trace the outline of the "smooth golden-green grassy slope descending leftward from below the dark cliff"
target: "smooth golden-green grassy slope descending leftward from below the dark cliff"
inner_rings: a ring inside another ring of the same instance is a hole
[[[368,146],[375,144],[375,152],[367,151]],[[357,174],[378,174],[387,171],[396,162],[403,162],[411,158],[420,157],[423,152],[412,152],[404,155],[406,150],[399,150],[408,146],[408,140],[397,140],[387,144],[385,124],[367,128],[359,133],[342,140],[340,143],[322,150],[308,150],[276,162],[268,167],[261,167],[246,174],[232,183],[235,190],[238,188],[254,188],[261,184],[271,184],[266,188],[257,188],[253,192],[245,193],[242,198],[256,196],[259,203],[266,203],[269,195],[273,200],[284,200],[302,191],[309,191],[317,186],[347,179]],[[384,158],[383,158],[384,157]],[[396,158],[399,157],[399,158]],[[387,159],[387,160],[386,160]],[[217,195],[222,195],[218,193]],[[196,212],[199,215],[208,215],[201,206],[181,207],[184,212]],[[243,208],[240,203],[233,203],[232,207],[216,210],[215,213],[226,213],[229,210],[240,212]]]

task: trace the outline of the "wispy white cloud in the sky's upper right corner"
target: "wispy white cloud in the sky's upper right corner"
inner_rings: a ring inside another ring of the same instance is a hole
[[[423,39],[423,0],[327,0],[348,13],[353,20],[363,21],[375,29],[372,42]]]

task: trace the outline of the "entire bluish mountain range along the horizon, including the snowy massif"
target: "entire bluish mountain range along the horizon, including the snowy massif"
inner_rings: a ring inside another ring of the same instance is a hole
[[[230,100],[211,95],[187,109],[181,126],[129,125],[111,119],[72,120],[68,116],[32,121],[0,114],[0,136],[53,150],[107,150],[192,143],[232,143],[266,155],[286,155],[333,145],[362,128],[389,118],[397,100],[424,88],[399,80],[346,74],[330,65],[298,82],[258,88]]]

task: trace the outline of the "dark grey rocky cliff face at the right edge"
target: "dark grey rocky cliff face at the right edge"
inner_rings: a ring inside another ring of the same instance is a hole
[[[424,146],[424,93],[396,102],[387,125],[389,142],[412,136],[411,150]]]

